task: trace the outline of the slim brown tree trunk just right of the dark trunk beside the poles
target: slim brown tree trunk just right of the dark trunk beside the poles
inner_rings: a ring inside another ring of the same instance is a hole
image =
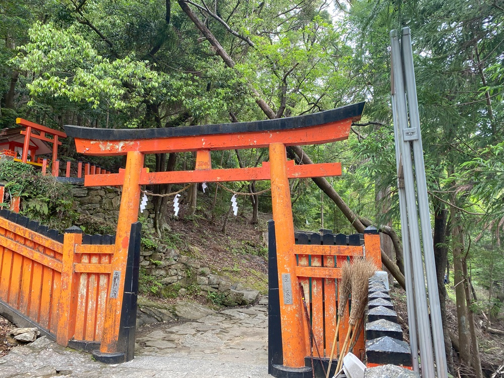
[[[452,222],[457,222],[455,217],[455,208],[452,208]],[[462,250],[464,239],[461,226],[454,224],[452,226],[452,241],[453,241],[453,270],[455,296],[457,302],[457,326],[459,331],[459,354],[461,361],[470,366],[471,364],[471,340],[469,327],[467,322],[467,301],[464,290],[464,273],[462,267]]]

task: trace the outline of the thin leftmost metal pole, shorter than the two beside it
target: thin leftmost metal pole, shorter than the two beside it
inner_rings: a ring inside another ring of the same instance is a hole
[[[392,80],[394,80],[392,78]],[[408,308],[408,326],[410,335],[411,357],[413,359],[413,370],[420,372],[418,366],[418,329],[416,325],[415,293],[413,289],[413,270],[411,266],[411,248],[408,235],[408,213],[406,211],[406,195],[404,193],[404,181],[402,178],[401,151],[399,148],[399,125],[396,121],[396,101],[394,93],[394,83],[392,83],[392,117],[394,120],[394,140],[396,148],[396,168],[397,168],[397,187],[399,192],[399,209],[401,212],[401,230],[403,239],[403,261],[406,282],[406,305]]]

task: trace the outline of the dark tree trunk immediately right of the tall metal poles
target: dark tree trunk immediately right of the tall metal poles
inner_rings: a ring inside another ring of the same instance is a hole
[[[446,243],[449,233],[447,227],[448,211],[445,204],[439,201],[432,201],[434,206],[434,261],[436,264],[437,291],[439,293],[439,305],[441,306],[441,321],[445,337],[445,352],[448,367],[453,372],[453,354],[452,342],[447,325],[446,313],[446,286],[445,286],[445,267],[448,261],[448,245]]]

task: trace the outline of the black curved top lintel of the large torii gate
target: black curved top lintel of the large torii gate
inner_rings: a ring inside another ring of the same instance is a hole
[[[179,128],[161,129],[97,129],[65,125],[67,136],[88,140],[123,141],[134,139],[154,139],[189,137],[210,134],[254,133],[263,131],[299,129],[343,119],[360,119],[365,102],[342,106],[313,114],[250,122],[205,124]]]

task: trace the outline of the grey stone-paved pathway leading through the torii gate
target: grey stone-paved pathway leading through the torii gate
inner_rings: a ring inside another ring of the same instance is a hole
[[[268,378],[267,298],[137,331],[135,359],[106,365],[39,338],[0,358],[0,378]]]

